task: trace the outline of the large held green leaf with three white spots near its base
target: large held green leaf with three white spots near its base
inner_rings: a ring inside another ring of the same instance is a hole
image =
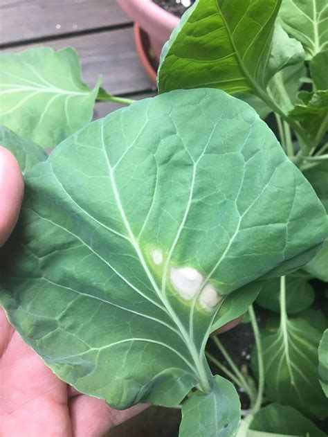
[[[1,303],[78,390],[172,406],[210,391],[203,351],[222,298],[313,256],[325,217],[252,108],[215,89],[165,93],[28,172]]]

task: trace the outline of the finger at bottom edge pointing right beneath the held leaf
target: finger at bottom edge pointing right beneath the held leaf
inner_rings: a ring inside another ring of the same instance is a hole
[[[100,437],[146,408],[147,404],[138,404],[118,411],[109,407],[104,400],[87,395],[75,396],[69,402],[73,437]]]

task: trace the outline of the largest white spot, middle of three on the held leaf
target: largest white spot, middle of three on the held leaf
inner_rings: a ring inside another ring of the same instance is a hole
[[[172,267],[170,280],[176,291],[189,301],[198,292],[203,276],[192,267]]]

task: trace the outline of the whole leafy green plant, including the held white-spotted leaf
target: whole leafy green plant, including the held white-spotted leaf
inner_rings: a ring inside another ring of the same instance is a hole
[[[71,48],[1,55],[0,139],[26,194],[0,302],[62,380],[118,409],[179,407],[181,437],[325,435],[308,281],[328,280],[327,12],[198,0],[163,49],[160,95],[131,105],[89,90]],[[96,98],[129,106],[89,124]],[[62,142],[47,158],[33,141]],[[215,335],[245,312],[248,370]]]

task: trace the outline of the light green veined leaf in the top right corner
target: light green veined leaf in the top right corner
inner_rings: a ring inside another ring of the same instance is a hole
[[[279,15],[286,32],[302,43],[307,60],[328,48],[327,0],[282,0]]]

